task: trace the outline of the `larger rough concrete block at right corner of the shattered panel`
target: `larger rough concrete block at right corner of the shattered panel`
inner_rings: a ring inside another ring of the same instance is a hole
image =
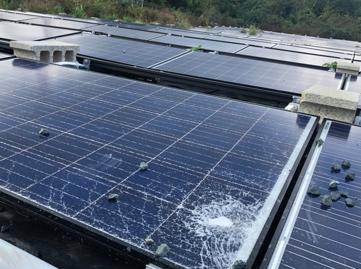
[[[317,115],[323,118],[352,123],[359,93],[312,86],[303,91],[300,102],[300,112]]]

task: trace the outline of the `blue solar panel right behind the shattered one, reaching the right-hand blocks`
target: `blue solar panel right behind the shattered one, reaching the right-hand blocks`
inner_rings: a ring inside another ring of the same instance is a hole
[[[299,95],[313,85],[337,89],[342,77],[322,70],[199,52],[154,69]]]

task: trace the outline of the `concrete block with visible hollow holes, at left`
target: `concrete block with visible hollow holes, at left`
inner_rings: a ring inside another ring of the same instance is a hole
[[[40,62],[76,62],[79,45],[60,41],[10,41],[14,55]]]

